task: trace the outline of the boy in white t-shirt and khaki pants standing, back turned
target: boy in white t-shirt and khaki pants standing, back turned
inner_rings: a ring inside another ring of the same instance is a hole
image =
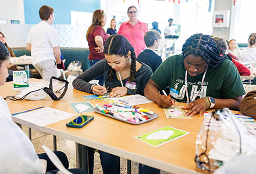
[[[61,63],[61,50],[57,30],[50,26],[54,22],[54,9],[44,5],[39,10],[41,22],[31,28],[26,49],[31,51],[32,64],[42,79],[49,81],[57,75],[56,63]]]

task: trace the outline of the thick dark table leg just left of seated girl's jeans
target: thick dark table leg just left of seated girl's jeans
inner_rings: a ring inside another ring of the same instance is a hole
[[[76,167],[89,172],[88,148],[79,143],[76,143]]]

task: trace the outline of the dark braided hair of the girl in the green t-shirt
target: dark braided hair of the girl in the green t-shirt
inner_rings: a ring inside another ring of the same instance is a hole
[[[183,59],[193,54],[200,56],[211,67],[218,66],[224,59],[219,56],[219,50],[210,35],[194,34],[182,46]]]

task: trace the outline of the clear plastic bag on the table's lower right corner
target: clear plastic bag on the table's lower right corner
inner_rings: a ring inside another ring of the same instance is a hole
[[[195,144],[198,168],[214,172],[237,155],[256,154],[256,137],[250,129],[229,108],[205,113]]]

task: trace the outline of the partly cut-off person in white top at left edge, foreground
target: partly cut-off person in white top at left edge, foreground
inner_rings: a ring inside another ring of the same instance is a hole
[[[0,86],[5,84],[10,67],[10,52],[0,42]],[[0,173],[57,173],[58,169],[52,164],[47,154],[36,154],[29,137],[12,121],[9,108],[0,96]],[[65,168],[69,161],[61,151],[54,152]],[[82,169],[69,169],[72,173],[86,174]]]

